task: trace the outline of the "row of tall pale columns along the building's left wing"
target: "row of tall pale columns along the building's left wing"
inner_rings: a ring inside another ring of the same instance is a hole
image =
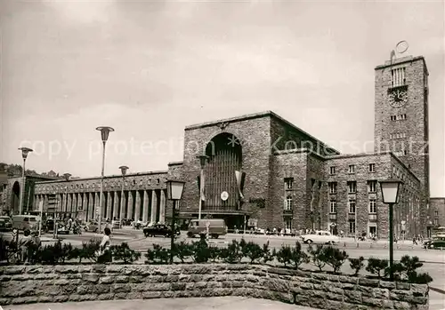
[[[123,195],[122,195],[123,194]],[[53,208],[62,217],[98,220],[100,193],[57,193]],[[102,219],[132,219],[152,224],[166,221],[166,190],[109,191],[102,194]],[[35,195],[33,210],[43,203],[44,212],[50,211],[50,194]]]

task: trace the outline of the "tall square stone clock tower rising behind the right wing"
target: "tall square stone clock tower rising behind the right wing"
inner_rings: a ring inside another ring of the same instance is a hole
[[[424,198],[419,221],[423,222],[430,194],[425,59],[408,56],[386,61],[375,68],[375,74],[375,151],[391,151],[420,179]]]

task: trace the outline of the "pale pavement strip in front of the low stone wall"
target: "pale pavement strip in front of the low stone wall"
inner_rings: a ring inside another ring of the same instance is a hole
[[[4,310],[316,310],[267,299],[244,297],[158,298],[4,306]]]

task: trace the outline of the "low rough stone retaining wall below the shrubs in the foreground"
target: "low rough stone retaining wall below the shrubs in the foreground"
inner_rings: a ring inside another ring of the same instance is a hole
[[[255,265],[1,266],[0,305],[246,296],[322,309],[428,309],[428,286]]]

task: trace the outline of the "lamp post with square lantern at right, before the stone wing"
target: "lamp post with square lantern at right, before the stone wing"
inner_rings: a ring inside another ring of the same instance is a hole
[[[394,225],[393,225],[393,211],[392,206],[396,203],[399,203],[399,193],[401,189],[401,185],[403,182],[399,179],[386,179],[380,181],[380,187],[382,188],[382,200],[384,203],[389,204],[389,248],[390,248],[390,280],[394,280]]]

